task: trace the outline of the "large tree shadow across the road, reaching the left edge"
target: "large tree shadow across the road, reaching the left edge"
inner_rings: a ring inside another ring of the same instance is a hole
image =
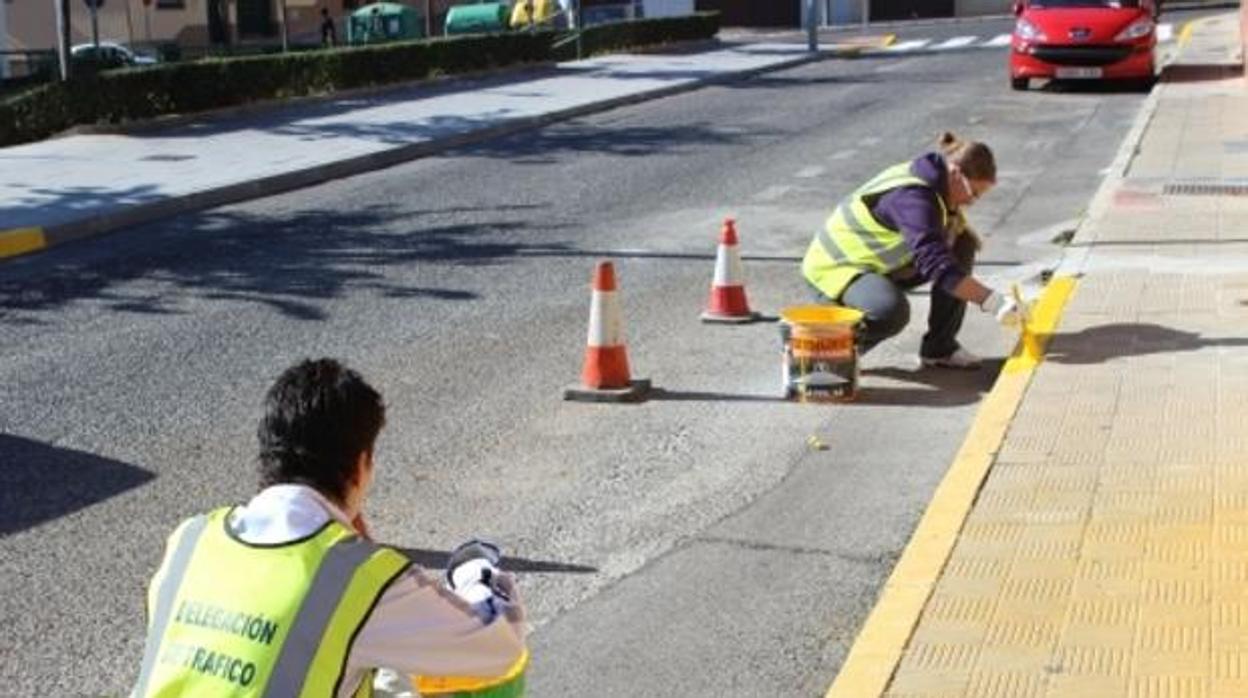
[[[327,317],[324,301],[348,292],[474,300],[475,288],[403,283],[387,270],[413,261],[495,265],[533,248],[568,251],[558,242],[517,242],[532,224],[513,210],[530,207],[494,206],[461,224],[441,222],[461,207],[282,216],[226,209],[183,216],[14,260],[6,266],[12,273],[0,278],[0,322],[39,322],[40,312],[80,301],[114,312],[181,315],[192,312],[188,300],[232,300],[318,321]]]

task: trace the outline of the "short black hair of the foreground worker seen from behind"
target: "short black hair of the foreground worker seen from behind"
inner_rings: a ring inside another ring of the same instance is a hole
[[[382,396],[359,373],[332,358],[305,360],[265,395],[260,486],[295,482],[341,502],[384,423]]]

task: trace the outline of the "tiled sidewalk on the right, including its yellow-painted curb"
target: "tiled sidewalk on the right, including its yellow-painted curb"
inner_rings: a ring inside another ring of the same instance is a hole
[[[829,697],[1248,696],[1239,46],[1194,25]]]

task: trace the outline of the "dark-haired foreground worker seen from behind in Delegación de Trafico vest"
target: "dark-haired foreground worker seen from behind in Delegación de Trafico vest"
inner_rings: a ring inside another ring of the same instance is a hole
[[[377,391],[336,361],[277,378],[260,493],[168,539],[134,696],[371,696],[383,668],[411,691],[413,674],[503,677],[527,657],[497,558],[488,589],[464,582],[469,603],[371,539],[362,511],[384,421]]]

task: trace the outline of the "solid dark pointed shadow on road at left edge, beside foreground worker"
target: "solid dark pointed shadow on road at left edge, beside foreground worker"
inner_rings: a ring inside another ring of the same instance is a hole
[[[134,489],[156,476],[92,453],[0,433],[0,536]]]

